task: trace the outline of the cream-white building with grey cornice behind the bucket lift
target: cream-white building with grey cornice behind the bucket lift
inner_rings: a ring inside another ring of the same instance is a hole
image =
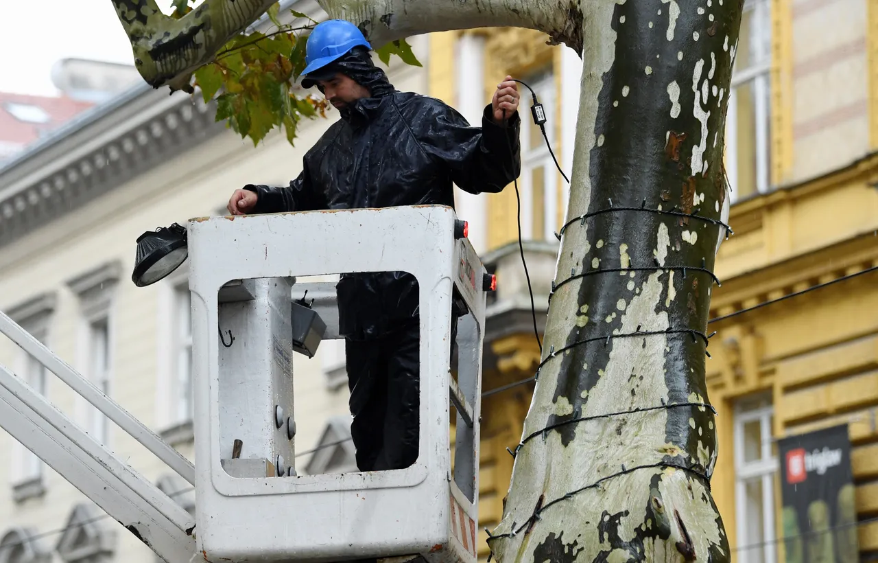
[[[314,10],[307,11],[319,17]],[[427,39],[413,47],[426,64]],[[396,60],[389,76],[399,90],[427,90],[424,69]],[[306,149],[338,118],[332,111],[327,119],[303,120],[295,148],[283,134],[253,148],[213,116],[197,96],[169,96],[141,81],[0,168],[0,310],[190,459],[186,267],[136,287],[135,241],[175,221],[226,214],[227,199],[244,184],[286,184],[298,175]],[[322,346],[311,360],[295,358],[299,473],[354,465],[345,441],[348,391],[339,344]],[[188,483],[162,473],[158,459],[5,338],[0,364],[191,508]],[[309,452],[320,444],[330,447]],[[0,563],[155,561],[2,430],[0,451],[9,452],[0,458]]]

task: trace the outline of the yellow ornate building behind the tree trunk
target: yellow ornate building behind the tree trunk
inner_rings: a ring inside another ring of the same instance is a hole
[[[831,29],[831,32],[826,32]],[[485,29],[430,39],[428,83],[474,119],[503,76],[546,105],[547,135],[570,170],[580,61],[540,33]],[[524,252],[542,331],[563,224],[566,185],[522,90]],[[726,169],[730,225],[716,275],[708,362],[718,412],[713,494],[735,561],[784,560],[777,440],[846,423],[863,560],[878,557],[878,3],[746,0],[732,77]],[[483,389],[527,379],[539,361],[517,245],[516,194],[457,198],[474,244],[496,269]],[[752,312],[748,307],[791,296]],[[483,399],[479,525],[502,514],[533,384]],[[482,531],[480,553],[487,556]]]

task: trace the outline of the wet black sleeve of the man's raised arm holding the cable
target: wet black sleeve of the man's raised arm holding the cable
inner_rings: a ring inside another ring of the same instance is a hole
[[[432,113],[432,115],[429,115]],[[522,170],[520,127],[515,112],[506,126],[493,122],[491,105],[482,112],[482,126],[472,127],[448,105],[431,105],[419,141],[431,157],[451,170],[451,180],[470,193],[502,191]]]

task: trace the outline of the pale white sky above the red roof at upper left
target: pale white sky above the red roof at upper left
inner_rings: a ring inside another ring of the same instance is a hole
[[[52,66],[66,57],[133,64],[110,0],[0,0],[0,92],[57,95]]]

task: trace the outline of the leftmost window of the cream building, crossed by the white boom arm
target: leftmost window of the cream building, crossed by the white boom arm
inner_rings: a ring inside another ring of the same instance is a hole
[[[12,307],[7,314],[40,343],[47,343],[49,324],[54,313],[55,295],[46,293],[28,300],[18,307]],[[18,361],[14,371],[37,393],[47,394],[47,369],[40,361],[25,350],[18,350]],[[16,443],[11,451],[12,497],[21,502],[43,494],[44,465],[32,451]]]

